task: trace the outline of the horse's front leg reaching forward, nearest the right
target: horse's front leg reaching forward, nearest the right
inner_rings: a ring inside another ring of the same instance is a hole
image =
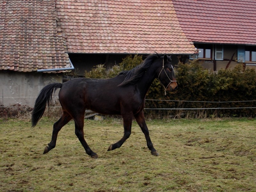
[[[156,151],[156,149],[153,147],[152,141],[149,137],[149,132],[148,132],[148,126],[145,122],[145,117],[144,117],[144,113],[143,111],[140,111],[139,113],[137,113],[136,115],[134,115],[137,123],[139,124],[141,131],[144,133],[145,138],[147,140],[147,146],[148,149],[151,151],[152,155],[158,156],[158,152]]]

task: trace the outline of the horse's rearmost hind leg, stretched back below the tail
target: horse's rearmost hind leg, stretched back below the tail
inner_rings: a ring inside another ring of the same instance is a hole
[[[58,133],[60,131],[60,129],[66,125],[70,120],[72,119],[72,117],[66,113],[65,111],[63,111],[62,116],[60,117],[60,119],[58,121],[56,121],[53,124],[53,130],[52,130],[52,140],[51,142],[48,144],[48,146],[46,146],[44,148],[44,154],[48,153],[51,149],[55,148],[56,146],[56,140],[57,140],[57,136]]]

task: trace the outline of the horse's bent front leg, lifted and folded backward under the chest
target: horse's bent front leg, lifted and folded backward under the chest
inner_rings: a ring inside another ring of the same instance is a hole
[[[124,136],[118,142],[111,144],[108,148],[108,151],[121,147],[124,141],[130,137],[131,130],[132,130],[132,118],[133,118],[132,113],[123,115]]]

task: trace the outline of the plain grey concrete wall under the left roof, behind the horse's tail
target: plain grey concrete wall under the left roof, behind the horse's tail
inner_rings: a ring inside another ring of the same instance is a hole
[[[62,83],[62,74],[0,71],[0,82],[0,106],[34,106],[40,90],[50,83]]]

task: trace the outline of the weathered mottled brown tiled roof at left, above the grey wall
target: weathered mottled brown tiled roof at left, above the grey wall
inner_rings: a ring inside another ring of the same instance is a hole
[[[0,0],[0,70],[67,67],[55,0]]]

